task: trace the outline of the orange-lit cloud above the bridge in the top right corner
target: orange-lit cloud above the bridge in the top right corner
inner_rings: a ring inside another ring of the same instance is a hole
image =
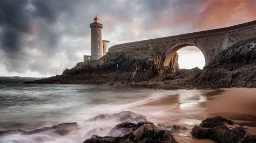
[[[256,19],[255,0],[207,0],[197,10],[196,30],[207,30],[245,23]]]

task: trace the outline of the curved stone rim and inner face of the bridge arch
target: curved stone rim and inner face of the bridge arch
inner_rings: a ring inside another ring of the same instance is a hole
[[[179,43],[176,45],[173,45],[169,48],[169,50],[166,52],[165,55],[165,61],[164,61],[164,67],[169,67],[170,66],[170,62],[172,60],[172,57],[174,56],[174,54],[181,48],[186,47],[186,46],[194,46],[197,47],[204,55],[204,59],[205,59],[205,65],[208,65],[208,60],[207,60],[207,54],[206,51],[204,51],[204,48],[201,48],[200,46],[197,46],[197,44],[194,43]]]

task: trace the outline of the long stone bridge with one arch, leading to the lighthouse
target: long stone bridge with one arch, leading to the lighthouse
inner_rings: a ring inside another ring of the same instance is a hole
[[[256,20],[214,30],[114,45],[109,48],[109,52],[122,52],[133,48],[160,51],[166,57],[164,66],[168,67],[172,56],[179,49],[185,46],[196,46],[204,54],[205,64],[208,65],[221,50],[226,49],[240,40],[254,36],[256,36]]]

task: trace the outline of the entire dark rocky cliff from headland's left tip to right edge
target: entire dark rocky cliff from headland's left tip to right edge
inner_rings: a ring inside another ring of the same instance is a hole
[[[80,62],[62,75],[28,83],[140,85],[158,89],[256,88],[256,37],[221,51],[203,70],[179,69],[176,53],[169,68],[165,55],[148,49],[109,53],[97,62]]]

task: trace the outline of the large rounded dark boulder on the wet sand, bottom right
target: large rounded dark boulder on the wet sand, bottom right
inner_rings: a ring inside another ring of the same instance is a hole
[[[224,117],[207,118],[199,126],[192,128],[191,134],[199,139],[211,139],[217,142],[240,142],[245,130]]]

